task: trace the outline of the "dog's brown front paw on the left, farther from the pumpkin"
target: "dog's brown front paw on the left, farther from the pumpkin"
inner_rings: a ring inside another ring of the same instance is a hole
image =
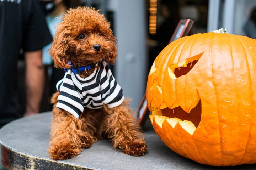
[[[75,157],[81,150],[80,146],[74,146],[71,143],[66,145],[60,143],[58,146],[52,145],[49,147],[49,155],[53,160],[66,160]]]

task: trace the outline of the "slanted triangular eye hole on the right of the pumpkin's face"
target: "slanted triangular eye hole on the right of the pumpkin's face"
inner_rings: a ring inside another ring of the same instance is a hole
[[[200,53],[199,55],[193,56],[186,60],[182,60],[178,64],[172,64],[169,66],[168,73],[170,78],[177,79],[182,75],[186,75],[195,66],[202,55],[203,53]]]

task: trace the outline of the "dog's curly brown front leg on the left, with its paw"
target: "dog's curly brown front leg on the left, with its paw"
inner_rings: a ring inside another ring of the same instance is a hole
[[[52,103],[57,103],[59,92],[53,95]],[[48,149],[50,158],[65,160],[78,155],[86,144],[92,143],[91,136],[81,130],[82,120],[62,111],[54,104],[53,121]]]

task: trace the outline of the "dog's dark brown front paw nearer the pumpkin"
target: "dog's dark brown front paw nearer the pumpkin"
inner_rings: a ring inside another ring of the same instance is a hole
[[[134,143],[130,143],[123,148],[123,152],[128,155],[132,155],[135,157],[145,155],[148,147],[145,141],[138,141]]]

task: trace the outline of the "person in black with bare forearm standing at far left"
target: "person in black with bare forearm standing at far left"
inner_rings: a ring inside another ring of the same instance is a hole
[[[0,128],[20,118],[17,60],[20,49],[26,63],[26,111],[38,114],[44,89],[42,48],[52,41],[37,0],[0,0]]]

